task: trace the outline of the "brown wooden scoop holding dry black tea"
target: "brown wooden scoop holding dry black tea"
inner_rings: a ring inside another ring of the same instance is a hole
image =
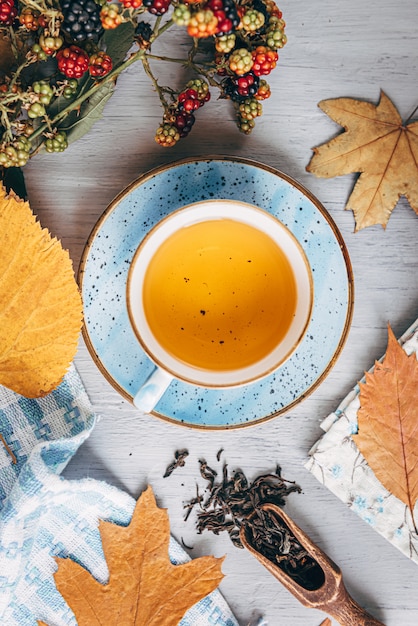
[[[338,565],[331,561],[280,507],[275,504],[263,504],[260,508],[275,516],[282,524],[284,523],[300,546],[315,561],[312,584],[314,588],[307,589],[256,550],[249,541],[245,526],[241,528],[240,538],[244,547],[293,593],[299,602],[309,608],[325,611],[341,626],[384,626],[352,599],[344,586]]]

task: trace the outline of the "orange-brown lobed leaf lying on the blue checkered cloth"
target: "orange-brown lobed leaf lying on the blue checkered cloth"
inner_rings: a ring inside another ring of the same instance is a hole
[[[223,559],[170,562],[168,515],[157,507],[151,487],[139,498],[129,526],[101,521],[99,530],[109,568],[107,584],[74,561],[57,559],[55,582],[78,626],[177,626],[223,578]]]

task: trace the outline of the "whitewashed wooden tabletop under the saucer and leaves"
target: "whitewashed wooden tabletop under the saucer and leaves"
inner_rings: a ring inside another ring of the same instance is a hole
[[[232,431],[174,426],[140,414],[97,370],[80,342],[76,365],[101,420],[66,470],[69,478],[106,480],[139,496],[151,484],[168,508],[173,535],[193,546],[190,554],[226,554],[221,590],[239,623],[264,615],[272,626],[319,626],[322,612],[300,605],[246,551],[223,533],[198,535],[183,521],[183,502],[193,497],[198,459],[216,464],[224,448],[229,468],[249,478],[273,470],[303,488],[287,511],[342,568],[354,598],[387,626],[418,624],[418,568],[343,505],[304,469],[307,453],[331,412],[386,346],[387,323],[397,335],[418,317],[418,217],[401,200],[384,231],[354,234],[344,211],[355,176],[325,180],[305,171],[311,148],[340,129],[318,108],[326,98],[349,96],[377,103],[380,89],[403,118],[418,104],[417,0],[283,0],[289,43],[269,77],[273,95],[249,137],[233,122],[230,103],[215,99],[198,112],[190,136],[170,150],[157,146],[161,119],[156,94],[141,67],[122,75],[104,119],[62,155],[37,156],[26,167],[31,205],[43,226],[70,250],[75,269],[86,239],[108,203],[149,169],[187,156],[240,155],[277,167],[298,179],[324,204],[348,247],[355,280],[355,307],[346,345],[328,377],[288,414]],[[173,38],[169,45],[176,46]],[[162,67],[161,83],[173,83],[178,66]],[[166,79],[166,80],[165,80]],[[186,466],[163,479],[178,448]],[[225,536],[223,536],[225,535]]]

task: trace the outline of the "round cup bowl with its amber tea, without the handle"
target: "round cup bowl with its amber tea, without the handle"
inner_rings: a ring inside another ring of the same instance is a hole
[[[266,211],[230,200],[179,209],[138,248],[130,320],[170,376],[204,387],[267,375],[300,343],[312,278],[292,233]]]

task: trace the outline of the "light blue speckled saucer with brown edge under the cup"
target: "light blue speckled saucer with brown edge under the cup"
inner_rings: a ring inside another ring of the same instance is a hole
[[[132,401],[153,365],[128,319],[129,264],[162,217],[209,198],[242,200],[277,216],[303,246],[314,281],[306,336],[274,374],[228,390],[174,382],[153,411],[177,424],[233,428],[284,413],[312,392],[334,364],[351,321],[353,277],[344,241],[319,201],[285,174],[246,159],[210,157],[177,161],[132,183],[99,219],[83,253],[83,334],[104,376]]]

